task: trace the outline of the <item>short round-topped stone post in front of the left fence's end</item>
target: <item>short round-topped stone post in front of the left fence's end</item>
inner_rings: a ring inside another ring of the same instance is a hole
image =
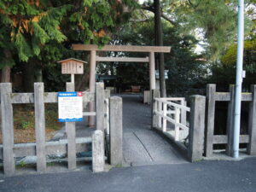
[[[103,172],[104,159],[104,134],[102,130],[96,130],[92,134],[92,171]]]

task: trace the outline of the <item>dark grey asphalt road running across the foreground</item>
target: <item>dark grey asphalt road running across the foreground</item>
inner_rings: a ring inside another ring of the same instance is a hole
[[[256,158],[241,161],[131,166],[109,172],[66,172],[0,177],[0,191],[208,192],[256,191]]]

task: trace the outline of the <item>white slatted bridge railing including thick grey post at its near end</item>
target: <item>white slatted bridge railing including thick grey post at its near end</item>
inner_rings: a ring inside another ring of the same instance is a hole
[[[190,161],[201,160],[204,152],[206,97],[191,96],[191,108],[186,106],[184,98],[157,97],[159,97],[159,90],[153,90],[152,127],[176,143]],[[186,120],[187,113],[190,113],[189,123]],[[174,126],[173,131],[170,127],[166,128],[167,121]],[[188,147],[181,141],[181,131],[185,134],[183,139],[185,137],[189,139]]]

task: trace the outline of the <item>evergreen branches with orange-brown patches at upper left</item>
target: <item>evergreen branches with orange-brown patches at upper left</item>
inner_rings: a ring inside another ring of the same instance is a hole
[[[26,77],[33,81],[35,70],[40,76],[45,65],[60,60],[63,54],[72,55],[67,51],[70,44],[107,44],[108,32],[129,18],[124,9],[136,5],[131,0],[3,0],[0,67],[26,63],[25,71],[31,72]]]

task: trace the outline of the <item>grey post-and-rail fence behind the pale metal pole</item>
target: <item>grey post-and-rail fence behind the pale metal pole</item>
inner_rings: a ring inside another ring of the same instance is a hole
[[[240,143],[247,143],[247,154],[256,154],[256,85],[251,92],[241,94],[242,102],[249,102],[248,134],[240,135]],[[216,102],[229,102],[227,134],[214,135],[214,118]],[[226,152],[232,155],[234,135],[235,85],[230,85],[230,92],[216,92],[215,84],[207,84],[207,126],[205,155],[212,156],[214,144],[226,144]]]

